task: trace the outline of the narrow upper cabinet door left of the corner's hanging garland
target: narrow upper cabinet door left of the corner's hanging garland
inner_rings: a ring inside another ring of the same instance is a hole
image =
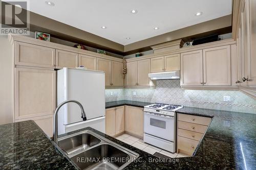
[[[123,63],[112,61],[111,64],[111,85],[112,86],[123,86]]]

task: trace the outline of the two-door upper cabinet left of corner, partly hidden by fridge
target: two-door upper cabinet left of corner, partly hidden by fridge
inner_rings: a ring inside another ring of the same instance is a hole
[[[97,70],[105,71],[105,86],[123,86],[123,63],[97,58]]]

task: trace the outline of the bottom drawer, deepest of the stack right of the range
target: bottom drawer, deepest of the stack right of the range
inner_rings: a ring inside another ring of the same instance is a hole
[[[197,148],[199,141],[178,136],[179,152],[192,155]]]

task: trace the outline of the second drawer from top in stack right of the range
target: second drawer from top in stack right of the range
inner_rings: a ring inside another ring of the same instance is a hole
[[[198,133],[204,133],[207,129],[207,126],[178,121],[178,128]]]

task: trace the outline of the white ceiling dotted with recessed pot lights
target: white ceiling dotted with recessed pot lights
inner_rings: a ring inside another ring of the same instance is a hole
[[[30,0],[30,11],[126,45],[231,14],[232,0]],[[137,14],[131,10],[137,9]],[[201,16],[195,16],[203,12]],[[106,29],[101,27],[105,26]],[[159,27],[159,30],[154,30]],[[126,37],[131,37],[127,40]]]

